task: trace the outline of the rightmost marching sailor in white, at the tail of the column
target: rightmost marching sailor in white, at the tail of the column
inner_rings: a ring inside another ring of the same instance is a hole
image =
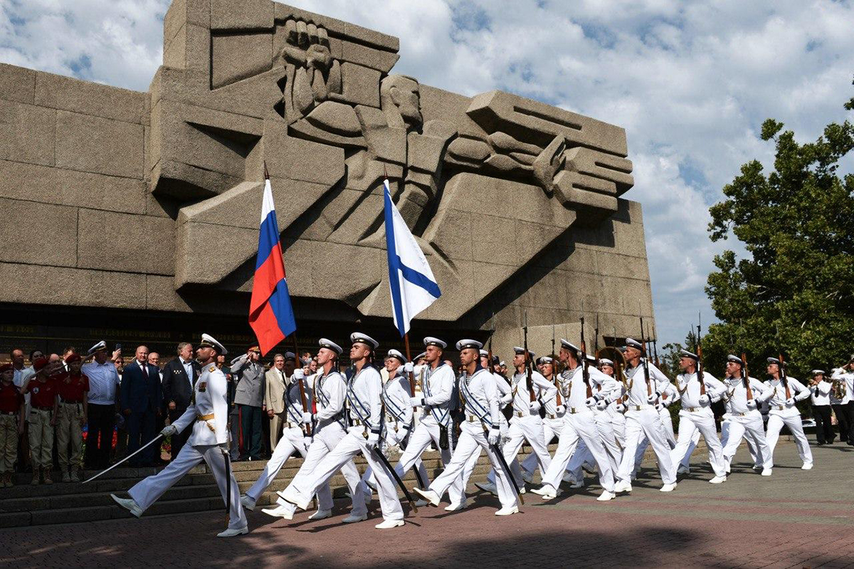
[[[777,438],[780,437],[783,425],[786,425],[795,437],[795,445],[798,447],[800,459],[804,460],[801,469],[810,470],[812,468],[812,451],[810,450],[810,443],[804,435],[804,425],[801,422],[800,412],[795,407],[795,402],[803,401],[810,396],[810,390],[797,379],[788,377],[785,367],[782,367],[777,358],[768,358],[768,374],[770,378],[764,383],[771,388],[773,393],[768,400],[770,411],[765,438],[768,441],[771,455],[774,455]]]

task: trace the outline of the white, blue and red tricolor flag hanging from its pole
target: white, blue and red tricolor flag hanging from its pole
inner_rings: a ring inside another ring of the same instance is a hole
[[[262,355],[296,331],[288,281],[284,278],[282,245],[278,240],[276,207],[272,202],[269,178],[264,183],[264,201],[261,203],[261,229],[252,301],[249,303],[249,326],[258,337]]]

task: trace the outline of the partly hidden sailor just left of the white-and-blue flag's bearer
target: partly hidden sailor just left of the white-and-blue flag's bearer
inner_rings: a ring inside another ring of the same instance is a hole
[[[410,390],[409,378],[404,374],[404,364],[407,359],[396,349],[389,349],[385,358],[385,370],[389,372],[389,380],[383,384],[383,408],[385,411],[385,430],[383,437],[385,448],[389,449],[396,445],[401,448],[407,446],[407,437],[412,432],[412,406],[409,404]],[[421,459],[415,461],[415,467],[424,480],[427,480],[427,469]],[[371,489],[377,488],[377,480],[374,478],[373,469],[367,467],[362,482]],[[366,494],[366,497],[369,496]]]

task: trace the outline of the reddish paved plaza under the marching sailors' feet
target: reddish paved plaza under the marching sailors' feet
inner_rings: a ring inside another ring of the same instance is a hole
[[[218,539],[224,512],[44,525],[0,531],[3,565],[23,566],[854,566],[854,449],[814,447],[800,470],[793,443],[781,443],[774,475],[752,472],[744,447],[725,484],[693,468],[675,492],[658,492],[644,464],[631,496],[594,501],[599,487],[550,503],[527,494],[523,513],[495,518],[497,501],[477,493],[465,512],[419,508],[407,525],[377,531],[342,525],[347,502],[319,522],[249,513],[248,536]],[[694,462],[701,460],[694,455]],[[588,478],[590,482],[592,478]]]

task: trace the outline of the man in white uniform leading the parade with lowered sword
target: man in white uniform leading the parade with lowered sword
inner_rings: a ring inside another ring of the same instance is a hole
[[[151,506],[163,493],[172,488],[187,472],[205,461],[208,469],[216,478],[223,502],[228,502],[230,519],[228,528],[220,531],[217,537],[239,536],[249,532],[246,515],[240,503],[240,487],[230,472],[231,480],[226,480],[225,468],[228,458],[228,400],[225,374],[216,366],[218,355],[228,352],[208,334],[202,334],[202,342],[196,351],[202,364],[202,375],[193,388],[190,406],[172,425],[167,425],[161,435],[169,437],[184,431],[190,425],[192,434],[181,452],[169,466],[154,476],[149,476],[128,490],[130,498],[120,498],[111,494],[113,500],[137,518]],[[226,496],[226,486],[231,494]]]

